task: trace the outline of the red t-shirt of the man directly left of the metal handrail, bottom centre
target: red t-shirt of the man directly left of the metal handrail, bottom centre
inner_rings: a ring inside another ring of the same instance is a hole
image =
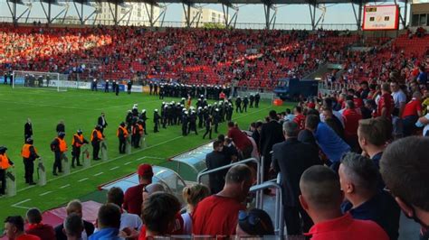
[[[245,206],[234,198],[217,195],[203,199],[192,215],[194,235],[235,235],[238,211]]]

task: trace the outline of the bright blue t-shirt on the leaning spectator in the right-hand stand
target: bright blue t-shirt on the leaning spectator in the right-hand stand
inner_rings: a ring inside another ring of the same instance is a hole
[[[314,133],[320,149],[328,156],[331,162],[339,162],[350,146],[344,142],[329,125],[320,122]]]

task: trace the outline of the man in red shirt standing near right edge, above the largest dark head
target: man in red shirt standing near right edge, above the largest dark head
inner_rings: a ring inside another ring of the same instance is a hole
[[[420,92],[413,93],[413,98],[405,105],[402,119],[404,124],[404,136],[415,133],[415,122],[422,115],[422,95]]]

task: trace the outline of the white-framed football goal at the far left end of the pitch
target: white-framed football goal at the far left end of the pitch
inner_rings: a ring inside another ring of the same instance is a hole
[[[21,71],[13,72],[13,88],[38,88],[67,91],[66,81],[68,75],[58,72]]]

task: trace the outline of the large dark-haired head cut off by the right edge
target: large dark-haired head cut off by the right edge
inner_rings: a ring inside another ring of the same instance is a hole
[[[406,217],[413,218],[427,231],[429,228],[429,138],[406,137],[387,146],[380,161],[380,171]],[[427,235],[425,238],[427,239]]]

